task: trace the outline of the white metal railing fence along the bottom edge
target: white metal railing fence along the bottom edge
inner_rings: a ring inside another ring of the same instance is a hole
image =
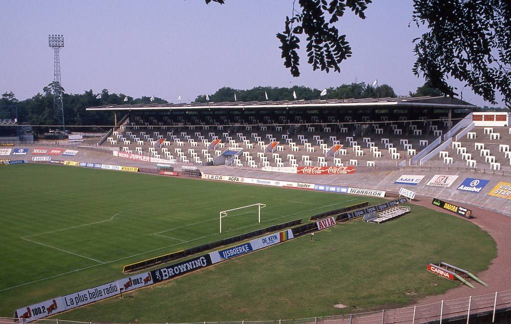
[[[463,320],[470,323],[476,316],[489,316],[492,322],[495,316],[502,312],[511,311],[511,290],[491,294],[470,296],[457,300],[441,301],[437,303],[405,307],[398,309],[381,310],[367,313],[344,314],[333,316],[309,317],[300,319],[278,319],[261,321],[228,321],[228,322],[195,322],[173,324],[415,324],[415,323],[442,323],[448,320]],[[19,322],[17,318],[0,317],[0,324]],[[26,321],[28,322],[28,320]],[[38,324],[91,324],[92,322],[79,322],[61,319],[38,319],[32,321]],[[95,324],[100,324],[94,322]],[[166,323],[171,324],[171,323]]]

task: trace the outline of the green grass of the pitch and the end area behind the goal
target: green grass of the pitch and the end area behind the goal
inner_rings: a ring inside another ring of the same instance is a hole
[[[124,278],[126,264],[295,219],[307,222],[311,215],[364,201],[381,202],[55,165],[10,165],[0,176],[0,315],[7,317],[17,308]],[[219,233],[220,211],[257,203],[266,205],[261,223],[256,207],[231,211]],[[457,285],[428,273],[429,262],[450,261],[477,273],[495,257],[494,241],[472,223],[417,206],[412,210],[382,225],[360,220],[338,225],[319,232],[314,242],[300,237],[57,316],[178,322],[332,315],[404,304]],[[349,307],[333,308],[340,302]],[[272,308],[276,304],[282,307]]]

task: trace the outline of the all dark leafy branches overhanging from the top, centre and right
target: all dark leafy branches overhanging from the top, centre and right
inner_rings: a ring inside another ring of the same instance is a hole
[[[224,4],[225,0],[205,0]],[[286,17],[277,34],[284,65],[300,75],[299,37],[308,41],[306,53],[313,70],[340,72],[339,64],[352,54],[346,35],[334,23],[351,9],[364,19],[371,0],[298,0],[299,9]],[[474,93],[496,104],[496,92],[511,103],[511,0],[413,0],[412,20],[429,29],[414,39],[417,60],[412,69],[433,88],[456,95],[447,79],[466,82]],[[328,19],[327,19],[328,18]],[[510,106],[511,107],[511,106]]]

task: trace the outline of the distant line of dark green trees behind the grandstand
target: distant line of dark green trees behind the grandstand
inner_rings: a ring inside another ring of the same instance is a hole
[[[55,125],[53,108],[53,88],[50,83],[43,88],[42,93],[37,93],[31,98],[18,101],[15,94],[5,92],[0,98],[0,108],[16,106],[17,123],[31,124],[34,134],[43,134],[51,128],[58,128]],[[62,89],[63,90],[63,89]],[[360,99],[360,98],[384,98],[398,97],[391,86],[387,84],[373,85],[362,83],[342,84],[338,87],[326,89],[315,89],[305,86],[270,87],[259,86],[248,90],[223,87],[213,94],[198,95],[194,103],[210,102],[250,102],[250,101],[291,101],[295,99]],[[409,92],[409,96],[439,96],[442,93],[427,83],[418,87],[415,92]],[[81,94],[68,94],[63,91],[62,103],[64,107],[64,121],[66,127],[72,130],[94,130],[96,127],[113,126],[114,116],[110,111],[86,111],[86,108],[104,105],[123,104],[173,104],[158,97],[142,96],[134,98],[124,93],[110,93],[103,89],[101,93],[94,93],[92,90],[84,91]],[[484,107],[483,110],[489,109]],[[498,110],[498,109],[497,109]],[[508,110],[508,109],[506,109]],[[73,128],[74,127],[74,128]],[[86,128],[82,128],[86,127]]]

